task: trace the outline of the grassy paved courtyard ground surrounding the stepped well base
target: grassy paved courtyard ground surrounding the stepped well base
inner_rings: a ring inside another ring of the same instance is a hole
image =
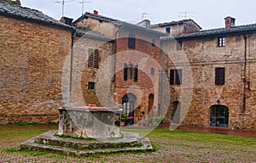
[[[256,162],[256,139],[208,132],[169,131],[157,128],[147,135],[151,153],[125,153],[75,157],[19,149],[19,144],[56,125],[0,126],[0,162]],[[145,129],[126,128],[143,134]]]

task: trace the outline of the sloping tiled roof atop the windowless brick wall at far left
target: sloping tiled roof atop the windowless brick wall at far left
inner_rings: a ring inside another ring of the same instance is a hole
[[[55,20],[42,13],[41,11],[32,8],[21,7],[12,3],[5,3],[3,1],[0,1],[0,15],[13,17],[19,20],[27,20],[44,25],[60,27],[65,30],[73,29],[71,26],[65,25],[59,20]]]

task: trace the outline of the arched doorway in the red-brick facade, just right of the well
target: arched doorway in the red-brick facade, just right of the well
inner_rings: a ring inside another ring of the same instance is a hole
[[[131,115],[133,117],[131,121],[128,121],[130,125],[134,123],[134,110],[136,108],[136,102],[137,97],[133,93],[127,93],[122,98],[122,104],[124,108],[123,113]]]

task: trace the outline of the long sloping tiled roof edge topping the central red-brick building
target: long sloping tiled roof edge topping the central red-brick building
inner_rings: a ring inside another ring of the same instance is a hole
[[[160,31],[154,31],[154,30],[145,28],[143,26],[134,25],[134,24],[131,24],[131,23],[127,23],[125,21],[115,20],[115,19],[112,19],[112,18],[108,18],[106,16],[91,14],[91,13],[88,13],[88,12],[86,12],[84,15],[79,17],[78,20],[75,20],[73,22],[73,25],[75,25],[79,21],[87,19],[87,18],[92,18],[92,19],[95,19],[95,20],[101,20],[101,21],[109,22],[109,23],[112,23],[113,25],[117,25],[117,26],[124,25],[125,27],[130,27],[130,28],[137,29],[137,30],[140,30],[140,31],[146,31],[146,32],[149,32],[149,33],[152,33],[152,34],[155,34],[155,35],[166,36],[166,33],[163,33],[163,32],[160,32]]]

